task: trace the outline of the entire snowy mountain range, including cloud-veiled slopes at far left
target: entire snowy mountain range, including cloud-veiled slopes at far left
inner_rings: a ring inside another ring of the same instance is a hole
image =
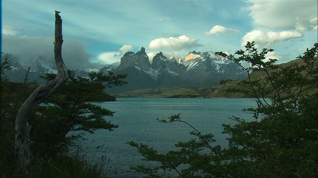
[[[10,54],[4,54],[13,63],[12,70],[7,70],[5,75],[12,82],[24,81],[28,68],[23,67]],[[33,57],[28,64],[30,67],[28,80],[43,82],[39,76],[45,73],[56,73],[53,59],[43,56]],[[212,51],[190,51],[184,61],[171,56],[167,58],[162,52],[157,53],[152,64],[149,61],[145,48],[138,52],[128,51],[120,60],[120,65],[101,66],[99,72],[106,74],[108,71],[114,74],[128,74],[124,79],[128,84],[121,87],[106,89],[108,93],[133,91],[149,88],[187,88],[198,89],[219,85],[221,80],[239,80],[246,77],[243,69],[234,61],[216,55]],[[77,71],[79,76],[87,76],[90,71]]]

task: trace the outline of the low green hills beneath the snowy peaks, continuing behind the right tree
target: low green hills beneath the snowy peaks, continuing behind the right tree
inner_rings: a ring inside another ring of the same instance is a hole
[[[275,64],[274,68],[267,70],[268,73],[278,72],[280,67],[286,68],[291,66],[303,66],[305,64],[303,59],[295,59],[291,60],[287,63],[282,64]],[[317,69],[317,62],[314,63]],[[305,72],[303,73],[306,74]],[[249,79],[252,81],[258,81],[260,83],[266,83],[267,73],[264,71],[253,71],[249,75]],[[243,80],[249,80],[245,78]],[[219,97],[227,97],[227,98],[242,98],[242,97],[250,97],[249,95],[244,95],[239,92],[229,92],[227,90],[231,90],[233,88],[236,89],[246,89],[239,85],[242,80],[236,81],[224,81],[222,84],[218,86],[212,86],[207,88],[200,88],[200,89],[186,89],[186,88],[177,88],[177,87],[170,87],[170,88],[156,88],[156,89],[138,89],[134,91],[126,91],[121,93],[112,94],[115,97],[177,97],[177,98],[219,98]],[[300,94],[301,97],[306,95],[313,95],[317,94],[318,86],[317,84],[313,86],[303,86],[305,89],[304,92]],[[298,91],[301,89],[300,87],[294,87],[289,92],[298,95]],[[272,85],[266,85],[264,88],[266,91],[265,97],[273,97],[276,93],[276,90],[272,87]]]

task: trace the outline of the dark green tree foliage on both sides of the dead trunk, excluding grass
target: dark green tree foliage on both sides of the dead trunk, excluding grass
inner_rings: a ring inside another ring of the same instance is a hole
[[[11,66],[9,62],[7,62],[7,66]],[[4,69],[1,65],[1,72],[8,69],[10,68]],[[46,74],[42,78],[49,82],[55,78],[55,75]],[[38,105],[30,114],[32,158],[41,160],[43,164],[46,162],[45,165],[49,165],[48,161],[52,159],[59,160],[69,151],[70,146],[75,145],[75,139],[80,138],[81,135],[72,135],[70,132],[84,131],[93,134],[97,129],[113,131],[118,127],[106,119],[106,116],[112,116],[114,112],[93,104],[91,101],[115,100],[104,90],[107,87],[124,85],[126,82],[121,79],[126,75],[114,75],[113,73],[104,75],[93,72],[89,74],[88,78],[84,78],[70,70],[68,75],[69,80],[63,88]],[[37,87],[36,82],[28,82],[27,75],[22,83],[13,83],[1,76],[1,177],[11,177],[12,173],[16,171],[13,159],[14,120],[21,104]],[[31,163],[32,160],[35,161],[31,159]],[[70,158],[70,160],[73,159]]]

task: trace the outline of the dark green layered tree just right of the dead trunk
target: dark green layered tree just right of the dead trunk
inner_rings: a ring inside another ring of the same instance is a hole
[[[114,112],[88,102],[114,100],[104,89],[126,84],[120,80],[126,75],[92,72],[88,78],[84,78],[76,76],[76,73],[70,70],[68,75],[69,80],[64,87],[38,106],[30,120],[33,125],[31,137],[35,141],[33,150],[36,154],[55,157],[66,153],[72,142],[80,137],[80,134],[67,136],[71,131],[93,134],[97,129],[113,131],[118,128],[104,118],[113,116]],[[55,78],[55,74],[46,74],[42,78],[50,82]]]

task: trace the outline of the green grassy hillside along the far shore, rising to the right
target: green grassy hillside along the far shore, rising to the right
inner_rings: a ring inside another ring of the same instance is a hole
[[[302,59],[292,60],[287,63],[278,64],[277,66],[286,67],[290,65],[300,65],[303,64]],[[279,69],[271,69],[269,72],[275,72]],[[260,79],[265,81],[266,73],[264,71],[254,71],[250,74],[252,80]],[[248,97],[240,93],[233,93],[227,90],[231,88],[242,88],[237,84],[241,80],[227,82],[226,84],[220,86],[213,86],[210,88],[203,89],[188,89],[184,87],[174,87],[174,88],[159,88],[159,89],[138,89],[135,91],[127,91],[122,93],[112,94],[116,97],[204,97],[204,98],[214,98],[214,97],[228,97],[228,98],[239,98],[239,97]],[[307,91],[308,94],[317,93],[317,85],[313,86],[310,90]],[[296,91],[297,88],[295,88]],[[274,89],[268,85],[265,90],[268,91],[268,96],[274,94]]]

